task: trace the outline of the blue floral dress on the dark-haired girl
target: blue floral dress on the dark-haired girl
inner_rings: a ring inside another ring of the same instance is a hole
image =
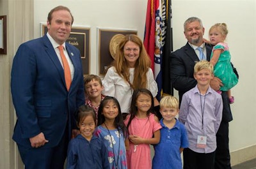
[[[95,135],[103,140],[108,149],[110,169],[115,169],[116,163],[118,169],[127,169],[125,138],[122,130],[120,129],[119,131],[120,133],[118,132],[118,129],[109,129],[108,131],[108,129],[102,126],[98,126],[95,129]],[[113,151],[115,153],[113,153]]]

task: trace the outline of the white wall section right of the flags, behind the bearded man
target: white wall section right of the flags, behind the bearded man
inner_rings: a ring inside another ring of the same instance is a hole
[[[173,48],[186,43],[183,34],[184,20],[196,16],[205,27],[204,38],[208,38],[209,28],[220,22],[228,26],[227,43],[232,54],[232,62],[239,71],[239,84],[232,89],[236,102],[231,105],[234,120],[230,122],[230,151],[256,144],[255,130],[255,21],[256,1],[202,0],[172,1]]]

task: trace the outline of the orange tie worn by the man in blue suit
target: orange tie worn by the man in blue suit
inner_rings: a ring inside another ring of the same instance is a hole
[[[66,82],[67,90],[69,90],[71,82],[72,82],[70,68],[69,68],[69,65],[68,65],[67,58],[65,57],[64,52],[63,52],[63,46],[60,45],[60,46],[58,46],[58,48],[60,50],[60,56],[61,56],[62,63],[63,63],[65,82]]]

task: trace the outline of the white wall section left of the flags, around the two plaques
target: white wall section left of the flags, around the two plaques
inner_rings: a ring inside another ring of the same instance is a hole
[[[40,36],[39,23],[46,23],[49,11],[58,5],[70,8],[74,16],[73,26],[91,28],[90,73],[98,74],[99,70],[97,67],[97,27],[136,30],[143,38],[147,10],[145,0],[35,0],[35,37]]]

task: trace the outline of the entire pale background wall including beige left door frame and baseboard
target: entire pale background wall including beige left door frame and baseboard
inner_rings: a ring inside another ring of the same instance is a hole
[[[68,6],[72,11],[74,26],[91,29],[90,73],[98,74],[98,27],[136,30],[143,38],[147,0],[0,0],[0,15],[8,15],[8,54],[0,55],[0,168],[22,168],[16,158],[15,143],[11,139],[15,122],[15,112],[10,101],[10,69],[13,55],[20,43],[40,36],[40,22],[45,23],[49,10],[60,4]],[[172,10],[174,50],[186,43],[183,23],[188,17],[196,16],[202,19],[205,38],[208,38],[207,32],[213,24],[227,24],[227,43],[232,62],[240,75],[239,84],[232,89],[236,98],[236,102],[231,105],[234,116],[234,121],[230,122],[232,164],[255,158],[256,114],[253,105],[256,103],[256,1],[172,0]]]

